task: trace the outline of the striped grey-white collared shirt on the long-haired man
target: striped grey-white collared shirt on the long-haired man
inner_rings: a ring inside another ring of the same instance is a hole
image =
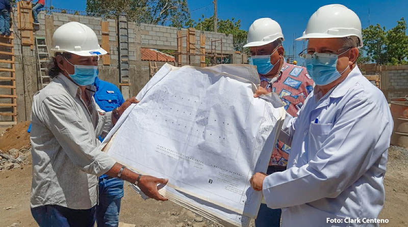
[[[112,128],[111,112],[98,110],[87,86],[81,89],[59,74],[34,95],[31,207],[59,205],[89,209],[98,202],[97,175],[115,164],[98,149],[98,136]]]

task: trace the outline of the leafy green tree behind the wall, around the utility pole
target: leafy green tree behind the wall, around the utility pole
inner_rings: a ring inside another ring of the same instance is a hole
[[[193,27],[196,30],[214,32],[214,17],[205,18],[204,15],[194,21],[192,19],[185,23],[185,27]],[[225,33],[226,35],[232,34],[234,36],[234,49],[236,51],[247,51],[242,46],[246,43],[246,37],[248,32],[241,30],[241,20],[235,20],[233,17],[231,20],[217,19],[217,32]]]

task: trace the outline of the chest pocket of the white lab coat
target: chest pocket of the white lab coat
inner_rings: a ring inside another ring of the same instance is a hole
[[[333,124],[331,123],[320,124],[311,122],[309,128],[308,161],[316,156],[317,151],[322,147],[332,127]]]

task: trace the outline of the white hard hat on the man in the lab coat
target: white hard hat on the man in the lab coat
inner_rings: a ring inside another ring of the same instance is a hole
[[[340,4],[320,7],[310,17],[303,36],[296,40],[309,38],[341,38],[357,36],[359,46],[363,46],[361,22],[357,14]]]

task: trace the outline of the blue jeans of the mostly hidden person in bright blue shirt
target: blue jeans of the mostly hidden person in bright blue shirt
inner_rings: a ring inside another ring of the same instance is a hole
[[[98,227],[118,226],[123,180],[103,175],[99,178],[99,204],[96,206]]]

